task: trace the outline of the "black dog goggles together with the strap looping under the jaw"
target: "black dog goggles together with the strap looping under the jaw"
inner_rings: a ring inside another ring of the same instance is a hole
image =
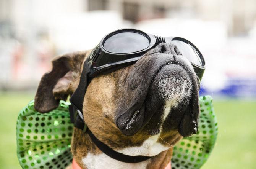
[[[190,41],[179,37],[157,37],[136,29],[120,29],[106,35],[84,61],[79,85],[70,97],[71,123],[90,136],[92,142],[106,155],[126,163],[145,161],[149,156],[128,156],[105,145],[84,122],[83,99],[91,79],[99,73],[109,73],[138,61],[144,53],[160,43],[173,43],[191,62],[199,79],[205,69],[204,58]]]

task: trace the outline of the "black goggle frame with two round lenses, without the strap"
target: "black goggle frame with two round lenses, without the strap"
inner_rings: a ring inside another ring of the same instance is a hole
[[[159,43],[176,45],[201,80],[205,69],[204,57],[193,43],[181,37],[158,37],[137,29],[118,29],[102,38],[87,57],[89,77],[133,64]]]

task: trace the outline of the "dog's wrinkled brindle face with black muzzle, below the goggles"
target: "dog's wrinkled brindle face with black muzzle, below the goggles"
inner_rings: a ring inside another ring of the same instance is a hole
[[[124,142],[140,146],[153,137],[173,145],[196,132],[198,87],[190,62],[176,46],[161,43],[135,64],[94,78],[84,99],[84,120],[115,148]]]

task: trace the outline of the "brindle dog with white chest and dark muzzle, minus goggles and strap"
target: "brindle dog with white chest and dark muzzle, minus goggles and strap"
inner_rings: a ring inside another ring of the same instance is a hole
[[[37,111],[55,109],[60,100],[76,90],[90,52],[53,59],[52,70],[42,76],[37,88]],[[97,139],[113,150],[152,158],[139,163],[117,161],[100,151],[86,132],[74,127],[73,159],[84,169],[164,169],[170,163],[175,143],[197,130],[199,84],[191,63],[177,46],[167,43],[160,43],[132,65],[98,75],[84,96],[85,123]],[[126,113],[120,114],[123,110]],[[136,111],[140,113],[134,114]],[[128,123],[133,123],[128,130],[133,134],[126,133]]]

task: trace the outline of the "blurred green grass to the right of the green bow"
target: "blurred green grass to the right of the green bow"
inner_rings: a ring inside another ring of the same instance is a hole
[[[214,102],[219,134],[203,169],[256,169],[256,101]]]

